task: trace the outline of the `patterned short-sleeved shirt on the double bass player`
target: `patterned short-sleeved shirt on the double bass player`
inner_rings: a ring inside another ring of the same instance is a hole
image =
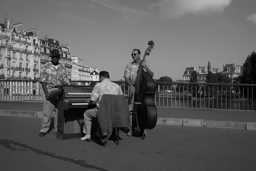
[[[147,67],[153,72],[149,62],[148,61],[145,61],[145,62],[146,62]],[[139,66],[135,65],[134,61],[131,62],[131,63],[128,63],[126,65],[123,77],[128,77],[130,79],[130,82],[132,84],[134,84],[135,80],[136,80],[136,77],[137,77],[138,68],[139,68]],[[143,69],[144,69],[145,72],[147,72],[145,68],[143,68]]]

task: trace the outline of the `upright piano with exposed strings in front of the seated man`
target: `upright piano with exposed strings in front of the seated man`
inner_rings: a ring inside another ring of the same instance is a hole
[[[84,112],[96,108],[89,103],[94,86],[58,85],[63,93],[58,98],[58,130],[59,139],[80,138],[83,131]]]

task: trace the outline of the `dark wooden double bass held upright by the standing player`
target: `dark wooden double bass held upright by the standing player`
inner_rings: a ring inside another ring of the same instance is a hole
[[[148,42],[149,47],[144,53],[143,60],[154,47],[154,42],[150,40]],[[144,130],[153,129],[157,121],[157,110],[154,103],[156,85],[154,79],[149,75],[149,73],[144,71],[143,66],[139,66],[137,71],[137,77],[135,80],[135,93],[133,101],[133,119],[132,122],[136,122],[138,130],[143,132]]]

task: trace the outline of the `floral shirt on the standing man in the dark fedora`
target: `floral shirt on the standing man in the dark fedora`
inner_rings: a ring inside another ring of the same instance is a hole
[[[40,70],[39,82],[46,83],[47,88],[56,87],[58,84],[68,84],[66,68],[61,63],[57,69],[52,62],[45,63]]]

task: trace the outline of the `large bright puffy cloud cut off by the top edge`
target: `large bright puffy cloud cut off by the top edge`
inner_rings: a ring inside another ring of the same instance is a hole
[[[158,8],[163,17],[177,18],[184,14],[222,12],[232,0],[159,0],[150,9]]]

